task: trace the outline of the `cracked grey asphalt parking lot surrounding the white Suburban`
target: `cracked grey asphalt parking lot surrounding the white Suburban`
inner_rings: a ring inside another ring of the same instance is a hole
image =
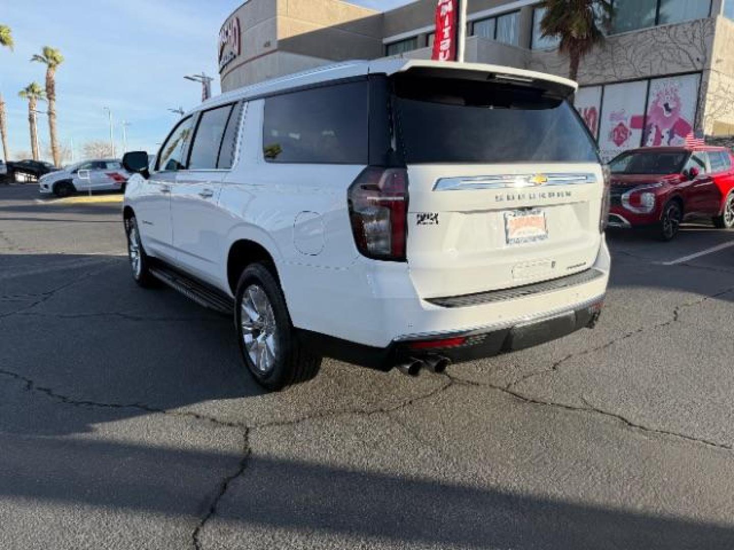
[[[119,202],[36,199],[0,186],[0,548],[734,547],[734,234],[610,235],[594,331],[267,394],[134,284]]]

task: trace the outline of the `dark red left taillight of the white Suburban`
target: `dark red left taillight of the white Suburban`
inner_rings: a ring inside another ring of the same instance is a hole
[[[349,219],[360,254],[405,260],[408,175],[405,169],[368,167],[349,187]]]

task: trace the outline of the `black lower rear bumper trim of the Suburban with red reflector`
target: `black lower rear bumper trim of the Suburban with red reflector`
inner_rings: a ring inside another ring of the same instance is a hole
[[[310,331],[300,331],[299,337],[304,345],[322,356],[377,370],[388,371],[409,359],[435,356],[460,363],[520,351],[581,329],[592,329],[599,319],[603,303],[604,296],[598,296],[584,304],[535,318],[471,331],[402,338],[394,340],[387,348],[374,348]]]

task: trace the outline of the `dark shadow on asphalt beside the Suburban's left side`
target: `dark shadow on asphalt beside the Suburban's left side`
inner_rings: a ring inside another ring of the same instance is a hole
[[[139,288],[126,257],[0,255],[0,331],[0,386],[86,402],[108,420],[264,393],[241,366],[230,318],[167,287]],[[32,420],[0,415],[0,430],[84,433],[95,422]]]

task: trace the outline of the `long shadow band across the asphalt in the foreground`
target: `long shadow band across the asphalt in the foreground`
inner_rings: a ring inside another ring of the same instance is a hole
[[[239,462],[228,453],[113,441],[33,438],[27,444],[33,445],[33,453],[24,452],[23,445],[3,453],[0,496],[21,503],[69,503],[161,516],[192,516],[203,496],[213,498],[218,489],[203,492],[200,480],[211,477],[214,467],[236,471]],[[44,472],[42,482],[38,472]],[[362,543],[379,538],[444,548],[670,550],[734,545],[731,527],[260,455],[251,456],[241,477],[230,483],[211,519],[219,521],[228,526],[225,537],[266,527],[325,538],[341,535]],[[206,540],[207,529],[213,527],[209,524],[200,536]],[[226,538],[219,542],[226,544]]]

